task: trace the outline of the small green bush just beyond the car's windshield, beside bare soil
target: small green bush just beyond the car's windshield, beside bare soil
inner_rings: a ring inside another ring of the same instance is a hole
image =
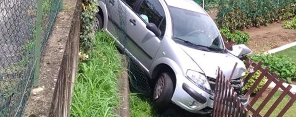
[[[222,28],[220,29],[220,32],[222,35],[225,35],[227,37],[226,41],[234,41],[237,44],[245,44],[250,40],[250,36],[246,32],[241,32],[241,31],[234,31],[234,33],[231,33],[229,29],[227,28]]]

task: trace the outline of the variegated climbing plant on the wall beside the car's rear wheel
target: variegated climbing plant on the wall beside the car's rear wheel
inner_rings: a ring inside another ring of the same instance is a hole
[[[88,51],[93,47],[93,40],[95,37],[93,26],[95,14],[98,12],[98,1],[83,0],[82,9],[80,47],[82,52],[88,53]]]

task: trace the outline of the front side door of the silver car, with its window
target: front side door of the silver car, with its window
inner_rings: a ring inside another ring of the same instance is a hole
[[[165,13],[158,0],[141,0],[134,11],[127,24],[126,32],[130,39],[127,49],[149,68],[165,32]],[[146,28],[148,23],[154,23],[160,29],[160,37]]]

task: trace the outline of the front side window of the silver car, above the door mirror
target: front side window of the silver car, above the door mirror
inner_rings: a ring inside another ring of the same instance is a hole
[[[138,11],[140,17],[146,23],[154,23],[161,31],[161,37],[165,32],[165,13],[159,1],[157,0],[144,0]]]

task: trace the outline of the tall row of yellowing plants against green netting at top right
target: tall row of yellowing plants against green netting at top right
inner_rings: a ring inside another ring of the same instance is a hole
[[[250,3],[252,2],[252,3]],[[264,4],[260,4],[265,2]],[[260,27],[272,22],[282,21],[296,15],[296,2],[282,1],[279,5],[273,1],[220,1],[216,19],[218,27],[231,31]],[[261,7],[260,7],[261,6]]]

